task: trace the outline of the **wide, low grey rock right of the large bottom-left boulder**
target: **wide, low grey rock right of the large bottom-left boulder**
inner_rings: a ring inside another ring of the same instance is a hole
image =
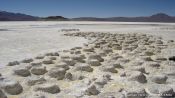
[[[42,91],[51,94],[56,94],[60,92],[60,88],[55,84],[43,84],[41,86],[37,86],[34,89],[35,91]]]

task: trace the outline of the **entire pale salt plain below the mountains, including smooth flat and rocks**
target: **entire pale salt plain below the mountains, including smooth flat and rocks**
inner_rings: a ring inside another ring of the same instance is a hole
[[[0,98],[174,98],[174,39],[175,23],[0,22]]]

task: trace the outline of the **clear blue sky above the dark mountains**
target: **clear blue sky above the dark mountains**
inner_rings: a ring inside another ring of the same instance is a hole
[[[0,0],[0,10],[34,16],[74,17],[175,16],[175,0]]]

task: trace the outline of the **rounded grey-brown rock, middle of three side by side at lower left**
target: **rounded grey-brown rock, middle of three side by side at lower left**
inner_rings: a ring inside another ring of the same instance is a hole
[[[45,66],[41,66],[41,67],[32,67],[31,68],[31,73],[34,75],[43,75],[47,72],[46,67]]]

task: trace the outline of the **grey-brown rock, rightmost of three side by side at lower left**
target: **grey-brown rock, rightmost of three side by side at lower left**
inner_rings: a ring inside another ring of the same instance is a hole
[[[57,78],[61,80],[65,77],[65,69],[64,68],[52,68],[49,70],[48,75],[52,78]]]

